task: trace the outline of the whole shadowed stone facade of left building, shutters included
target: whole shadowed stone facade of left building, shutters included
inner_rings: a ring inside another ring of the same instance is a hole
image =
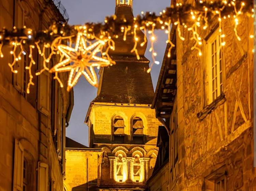
[[[53,21],[65,22],[52,1],[0,0],[0,28],[26,25],[39,30]],[[43,73],[34,75],[35,85],[26,93],[26,59],[18,62],[18,73],[13,74],[8,66],[10,49],[2,50],[6,56],[0,59],[0,190],[63,190],[65,124],[72,111],[72,92],[60,89],[51,75]],[[33,74],[40,70],[40,62],[38,57]]]

